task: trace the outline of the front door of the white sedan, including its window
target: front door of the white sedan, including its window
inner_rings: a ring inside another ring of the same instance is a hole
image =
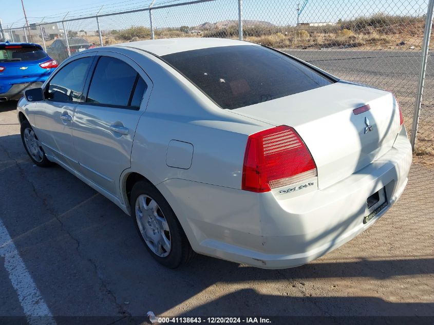
[[[34,110],[37,137],[46,153],[72,169],[78,169],[72,123],[94,56],[79,56],[56,70],[44,85],[44,101],[38,102]]]

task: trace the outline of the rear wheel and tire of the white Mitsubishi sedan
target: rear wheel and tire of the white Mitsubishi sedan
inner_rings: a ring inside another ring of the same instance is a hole
[[[157,262],[176,269],[193,258],[195,253],[178,218],[154,185],[137,182],[131,190],[130,207],[139,236]]]

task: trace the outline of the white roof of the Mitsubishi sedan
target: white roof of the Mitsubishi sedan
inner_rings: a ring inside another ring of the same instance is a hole
[[[228,39],[213,39],[211,37],[183,37],[178,39],[148,40],[115,44],[114,46],[133,47],[161,56],[184,51],[234,45],[259,46],[258,44],[249,42]]]

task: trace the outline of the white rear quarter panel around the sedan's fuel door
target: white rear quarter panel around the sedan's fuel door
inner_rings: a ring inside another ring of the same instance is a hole
[[[129,55],[154,83],[137,126],[130,171],[144,175],[155,185],[168,179],[184,179],[240,188],[247,138],[271,125],[217,107],[153,55],[140,50]],[[171,140],[193,145],[190,168],[166,165]]]

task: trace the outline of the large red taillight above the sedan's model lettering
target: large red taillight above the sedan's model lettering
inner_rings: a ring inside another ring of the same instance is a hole
[[[268,192],[313,176],[316,176],[315,162],[292,127],[281,125],[249,136],[242,189]]]

